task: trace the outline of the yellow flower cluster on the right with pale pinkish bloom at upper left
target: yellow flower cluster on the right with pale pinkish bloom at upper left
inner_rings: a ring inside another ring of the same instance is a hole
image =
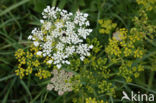
[[[143,35],[134,30],[131,30],[130,34],[128,35],[128,30],[125,28],[114,33],[113,38],[109,39],[109,44],[105,48],[106,53],[117,57],[142,58],[143,50],[138,48],[136,44],[143,40]]]

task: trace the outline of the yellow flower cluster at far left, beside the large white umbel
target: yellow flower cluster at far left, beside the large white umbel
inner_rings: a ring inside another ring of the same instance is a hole
[[[18,49],[15,53],[16,59],[18,59],[18,69],[15,70],[16,75],[22,79],[25,75],[29,75],[33,72],[33,70],[37,70],[36,76],[40,79],[48,78],[51,76],[51,73],[47,70],[41,70],[41,64],[46,64],[43,61],[39,61],[40,59],[36,53],[38,52],[39,48],[35,46],[31,46],[30,51],[24,52],[23,49]],[[40,56],[41,57],[41,56]],[[44,60],[45,61],[45,60]],[[47,64],[46,64],[47,65]]]

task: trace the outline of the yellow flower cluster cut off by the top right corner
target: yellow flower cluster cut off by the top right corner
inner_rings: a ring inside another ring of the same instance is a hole
[[[143,5],[143,8],[147,11],[151,11],[156,8],[156,0],[136,0],[139,5]]]

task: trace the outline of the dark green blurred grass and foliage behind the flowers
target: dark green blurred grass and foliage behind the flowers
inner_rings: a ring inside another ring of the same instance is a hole
[[[98,33],[99,19],[109,18],[118,23],[118,28],[130,28],[131,19],[137,15],[138,9],[135,0],[0,0],[0,103],[70,103],[74,97],[70,93],[57,96],[55,92],[46,91],[44,81],[39,82],[33,78],[20,80],[14,73],[17,68],[14,52],[18,48],[26,49],[29,46],[27,36],[33,27],[40,25],[41,12],[47,5],[71,12],[79,9],[89,13],[91,27],[94,29],[91,37],[97,37],[102,44],[107,44],[107,41],[104,35]],[[156,24],[156,10],[149,15],[150,22]],[[155,48],[149,48],[155,51]],[[147,56],[142,62],[149,60],[154,61],[156,57]],[[137,90],[156,94],[155,72],[150,68],[147,65],[133,83],[118,82],[129,92]],[[120,98],[110,101],[116,103],[119,100]]]

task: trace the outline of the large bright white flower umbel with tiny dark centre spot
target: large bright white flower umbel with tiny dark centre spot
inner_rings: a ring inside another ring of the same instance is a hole
[[[40,20],[41,29],[35,28],[28,39],[33,40],[36,47],[42,48],[37,54],[49,56],[48,63],[55,64],[61,68],[62,64],[70,64],[69,57],[74,53],[83,61],[89,56],[92,45],[84,43],[84,40],[92,29],[87,29],[89,21],[88,14],[77,11],[75,15],[66,10],[47,6],[44,9],[43,19]]]

